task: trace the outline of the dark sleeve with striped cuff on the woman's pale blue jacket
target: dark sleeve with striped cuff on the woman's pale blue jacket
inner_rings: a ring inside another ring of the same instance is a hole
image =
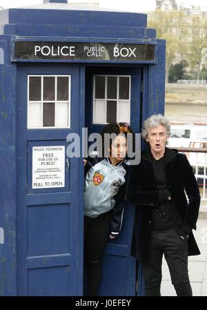
[[[126,182],[120,186],[119,192],[114,196],[115,206],[110,212],[110,234],[119,235],[126,204]]]

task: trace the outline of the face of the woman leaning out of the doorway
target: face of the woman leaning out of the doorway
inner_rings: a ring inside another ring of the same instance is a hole
[[[117,137],[112,141],[110,157],[121,162],[126,157],[127,144],[126,137],[124,135],[117,135]]]

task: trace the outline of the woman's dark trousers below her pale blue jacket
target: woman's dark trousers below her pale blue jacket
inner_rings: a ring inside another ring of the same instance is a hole
[[[98,296],[102,257],[110,234],[110,212],[84,217],[84,260],[87,267],[88,296]]]

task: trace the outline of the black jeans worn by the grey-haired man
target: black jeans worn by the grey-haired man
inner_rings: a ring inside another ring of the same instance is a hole
[[[152,230],[149,262],[143,264],[146,296],[161,296],[161,262],[165,256],[177,296],[192,296],[188,278],[188,237],[175,229]]]

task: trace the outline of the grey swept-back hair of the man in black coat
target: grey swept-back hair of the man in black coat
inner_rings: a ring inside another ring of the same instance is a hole
[[[170,121],[161,114],[153,114],[148,119],[146,119],[141,128],[141,137],[146,140],[146,137],[149,133],[150,128],[155,128],[159,125],[162,125],[167,130],[167,135],[170,137]]]

